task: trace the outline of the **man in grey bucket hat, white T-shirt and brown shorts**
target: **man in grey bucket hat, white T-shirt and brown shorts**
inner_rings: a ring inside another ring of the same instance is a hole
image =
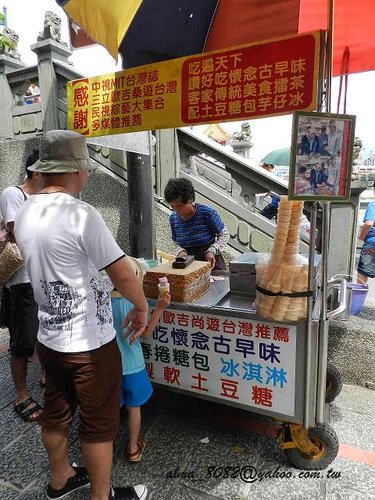
[[[135,338],[146,327],[148,305],[129,259],[99,212],[74,197],[93,168],[84,137],[47,132],[40,161],[31,167],[42,174],[44,188],[25,203],[15,223],[39,308],[37,349],[47,383],[40,424],[51,465],[47,497],[62,498],[91,482],[92,500],[144,500],[142,485],[110,486],[122,367],[110,296],[98,289],[98,271],[105,270],[134,304],[126,323],[131,322]],[[68,460],[68,428],[77,408],[89,477],[84,467],[72,467]]]

